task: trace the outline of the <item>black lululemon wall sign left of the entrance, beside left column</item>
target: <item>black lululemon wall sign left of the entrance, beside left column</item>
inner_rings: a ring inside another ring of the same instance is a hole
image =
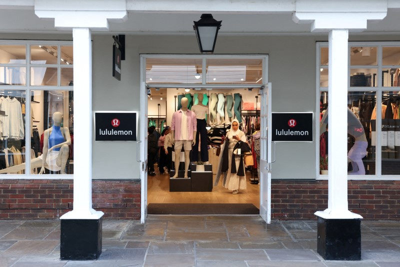
[[[136,141],[135,112],[96,112],[96,141]]]

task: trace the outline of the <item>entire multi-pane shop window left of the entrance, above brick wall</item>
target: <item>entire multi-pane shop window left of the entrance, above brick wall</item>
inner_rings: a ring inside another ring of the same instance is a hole
[[[59,126],[60,130],[54,131],[60,133],[56,142],[66,142],[66,146],[47,153],[51,154],[50,165],[56,164],[58,169],[44,161],[42,173],[54,174],[53,177],[72,174],[72,42],[15,43],[0,41],[0,173],[12,174],[10,178],[41,174],[41,137],[46,130]]]

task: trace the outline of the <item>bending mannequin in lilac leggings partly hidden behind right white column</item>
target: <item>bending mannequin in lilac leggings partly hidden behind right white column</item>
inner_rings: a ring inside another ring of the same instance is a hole
[[[320,134],[324,133],[327,130],[327,122],[328,110],[325,111],[325,114],[323,114],[323,117],[321,119],[321,123],[319,126]],[[353,170],[348,174],[364,175],[365,167],[362,163],[362,158],[366,156],[368,142],[365,137],[364,127],[349,108],[347,108],[347,134],[355,138],[354,145],[350,148],[347,154],[347,158],[349,162],[351,162],[351,166],[353,168]]]

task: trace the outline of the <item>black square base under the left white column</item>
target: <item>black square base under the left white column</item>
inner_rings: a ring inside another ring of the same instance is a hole
[[[102,217],[99,219],[61,219],[60,258],[97,259],[101,254]]]

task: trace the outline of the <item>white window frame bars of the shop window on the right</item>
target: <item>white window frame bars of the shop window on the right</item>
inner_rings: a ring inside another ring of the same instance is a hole
[[[320,69],[328,69],[328,65],[321,65],[320,63],[320,51],[321,48],[328,47],[328,42],[316,42],[316,105],[315,111],[319,113],[319,99],[322,92],[328,92],[327,87],[320,86]],[[376,63],[377,65],[350,65],[350,49],[351,47],[376,47]],[[386,91],[400,91],[400,87],[383,87],[382,86],[382,69],[387,68],[400,68],[400,65],[382,65],[382,48],[383,47],[398,47],[400,48],[400,42],[348,42],[348,63],[347,63],[347,92],[365,92],[370,91],[376,94],[376,103],[382,103],[382,93]],[[351,69],[376,69],[376,87],[350,87],[350,73]],[[376,106],[376,114],[381,114],[381,105]],[[381,127],[382,118],[376,116],[376,150],[375,150],[375,174],[373,175],[347,175],[348,180],[400,180],[399,175],[382,175],[382,148],[381,148]],[[315,141],[319,140],[319,120],[315,121]],[[315,172],[316,180],[326,180],[327,175],[319,174],[319,145],[315,145]]]

